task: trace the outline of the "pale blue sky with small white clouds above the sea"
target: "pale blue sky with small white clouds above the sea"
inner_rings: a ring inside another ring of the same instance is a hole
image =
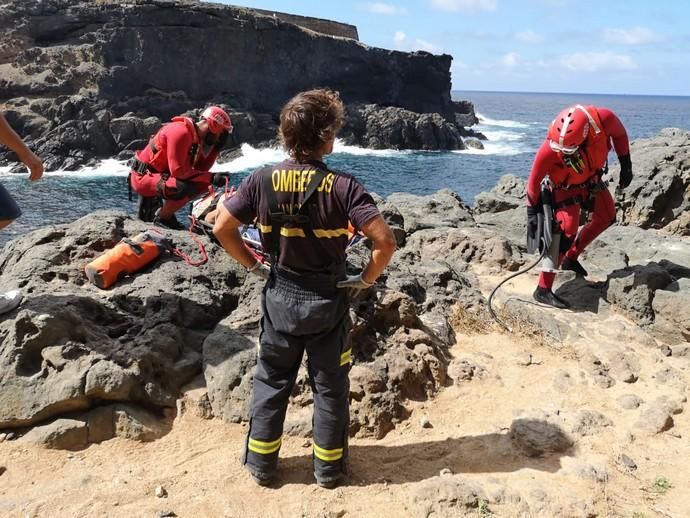
[[[216,0],[453,56],[453,90],[690,95],[687,0]]]

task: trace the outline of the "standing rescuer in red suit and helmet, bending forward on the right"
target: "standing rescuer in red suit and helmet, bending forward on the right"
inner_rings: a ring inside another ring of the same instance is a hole
[[[621,166],[619,188],[632,181],[628,135],[620,119],[607,108],[576,105],[566,108],[549,126],[527,180],[528,233],[536,229],[541,212],[540,185],[549,175],[553,185],[554,213],[563,234],[561,270],[586,277],[578,261],[582,251],[616,219],[616,207],[602,176],[608,171],[608,154],[616,152]],[[591,220],[578,233],[582,205],[591,207]],[[557,308],[569,304],[552,291],[556,274],[542,272],[534,292],[538,302]]]

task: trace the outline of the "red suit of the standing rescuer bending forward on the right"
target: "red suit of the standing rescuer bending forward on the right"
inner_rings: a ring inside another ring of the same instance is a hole
[[[539,202],[540,184],[547,174],[554,185],[555,217],[563,232],[559,266],[565,256],[577,259],[587,245],[616,220],[616,206],[611,193],[599,187],[601,175],[612,143],[619,157],[629,153],[628,135],[620,119],[607,108],[587,106],[586,110],[601,131],[597,133],[590,128],[586,140],[580,145],[584,163],[582,172],[568,167],[561,153],[553,151],[546,139],[537,151],[527,180],[527,202],[530,205]],[[581,200],[593,201],[593,211],[591,221],[578,234]],[[542,272],[539,287],[551,289],[555,278],[555,273]]]

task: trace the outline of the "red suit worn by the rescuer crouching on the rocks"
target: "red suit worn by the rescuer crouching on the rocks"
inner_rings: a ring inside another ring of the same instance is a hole
[[[170,217],[187,202],[205,193],[211,183],[209,170],[216,161],[214,146],[204,154],[203,143],[194,122],[188,117],[174,117],[156,133],[148,145],[135,154],[144,174],[132,171],[132,189],[145,197],[165,200],[161,216]]]

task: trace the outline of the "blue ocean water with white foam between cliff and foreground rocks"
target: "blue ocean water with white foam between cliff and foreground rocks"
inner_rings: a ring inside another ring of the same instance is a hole
[[[564,107],[581,103],[614,110],[631,139],[650,137],[666,127],[690,129],[690,97],[617,96],[505,92],[453,92],[455,99],[474,103],[480,124],[473,128],[488,140],[484,150],[414,152],[368,150],[336,144],[326,163],[357,176],[369,191],[431,194],[448,188],[473,204],[474,196],[493,187],[504,174],[526,178],[546,127]],[[243,156],[216,164],[214,171],[233,173],[233,183],[255,168],[280,161],[279,149],[242,146]],[[633,170],[635,157],[632,157]],[[51,171],[30,183],[23,175],[0,168],[0,182],[24,214],[0,231],[0,245],[31,229],[66,223],[97,209],[135,212],[127,199],[127,167],[105,160],[78,172]]]

